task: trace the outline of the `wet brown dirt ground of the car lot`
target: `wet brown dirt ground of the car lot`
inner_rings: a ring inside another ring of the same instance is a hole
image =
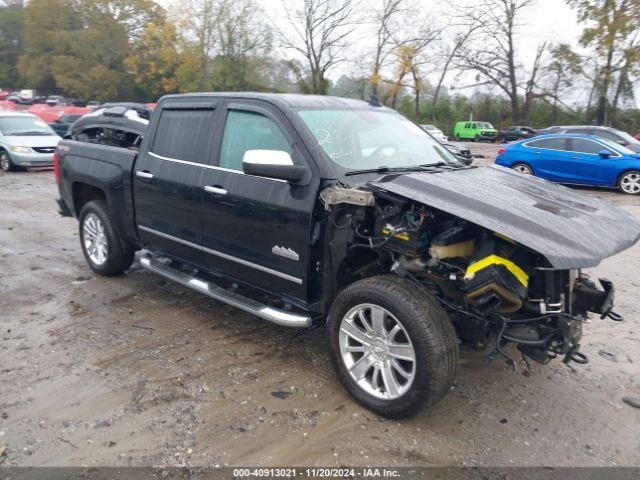
[[[640,218],[640,198],[584,192]],[[51,171],[0,174],[4,466],[640,465],[640,409],[622,401],[640,396],[640,245],[589,272],[616,282],[625,321],[586,325],[588,365],[526,376],[463,353],[440,404],[390,421],[341,388],[322,328],[266,323],[137,265],[95,276],[56,195]]]

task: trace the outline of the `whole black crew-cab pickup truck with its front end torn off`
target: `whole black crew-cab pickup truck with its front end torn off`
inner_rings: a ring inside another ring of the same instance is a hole
[[[584,363],[588,312],[619,316],[581,269],[640,237],[607,203],[464,166],[393,110],[332,97],[166,96],[139,150],[64,140],[55,172],[95,272],[142,250],[262,319],[326,322],[340,380],[389,417],[441,399],[461,347]]]

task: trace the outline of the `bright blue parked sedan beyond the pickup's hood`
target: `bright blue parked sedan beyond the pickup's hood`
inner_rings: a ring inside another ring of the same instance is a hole
[[[501,145],[496,164],[552,182],[640,194],[640,154],[595,135],[542,135]]]

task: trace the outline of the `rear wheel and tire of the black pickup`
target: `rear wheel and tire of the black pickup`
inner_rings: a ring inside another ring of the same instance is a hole
[[[99,275],[118,275],[133,263],[135,252],[127,250],[116,233],[103,200],[88,202],[80,211],[80,245],[84,258]]]

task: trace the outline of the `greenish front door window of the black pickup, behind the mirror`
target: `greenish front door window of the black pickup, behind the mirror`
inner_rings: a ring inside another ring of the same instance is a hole
[[[280,127],[256,112],[230,110],[222,137],[220,167],[242,171],[242,158],[248,150],[279,150],[292,153]]]

